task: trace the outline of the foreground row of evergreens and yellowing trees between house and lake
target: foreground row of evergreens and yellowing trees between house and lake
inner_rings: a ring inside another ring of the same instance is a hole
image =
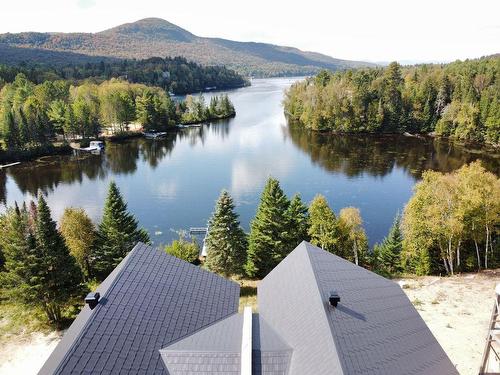
[[[75,207],[66,208],[57,225],[43,195],[37,203],[8,208],[0,224],[2,305],[43,312],[41,319],[56,327],[75,316],[85,293],[138,241],[150,242],[113,182],[97,225]],[[386,238],[372,249],[358,208],[336,213],[322,195],[305,204],[298,194],[287,197],[272,177],[249,233],[225,190],[208,227],[201,263],[198,243],[185,235],[165,251],[240,280],[262,279],[303,240],[386,277],[478,271],[500,265],[500,179],[480,162],[448,174],[425,172]]]

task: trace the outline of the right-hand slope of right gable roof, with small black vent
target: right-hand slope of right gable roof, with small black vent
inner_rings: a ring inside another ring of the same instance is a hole
[[[303,245],[345,374],[458,374],[399,285]],[[328,303],[332,290],[337,308]]]

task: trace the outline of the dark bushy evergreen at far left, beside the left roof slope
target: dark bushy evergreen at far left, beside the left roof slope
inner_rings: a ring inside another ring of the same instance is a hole
[[[61,309],[80,296],[81,273],[69,254],[50,210],[40,196],[30,211],[16,206],[6,214],[0,238],[5,251],[2,282],[8,295],[42,308],[52,322],[61,321]]]

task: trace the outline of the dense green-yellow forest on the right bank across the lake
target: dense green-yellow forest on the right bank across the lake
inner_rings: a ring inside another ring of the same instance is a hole
[[[339,133],[435,133],[500,143],[500,57],[369,68],[294,84],[285,111],[303,127]]]

